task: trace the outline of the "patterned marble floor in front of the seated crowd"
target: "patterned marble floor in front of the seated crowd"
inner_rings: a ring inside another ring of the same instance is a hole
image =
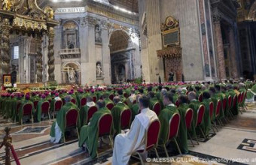
[[[256,164],[256,103],[248,104],[248,110],[239,114],[215,136],[200,145],[190,145],[189,154],[164,157],[162,164]],[[50,143],[50,125],[53,121],[34,124],[11,123],[0,116],[0,144],[5,136],[5,127],[11,127],[13,145],[21,164],[111,164],[112,149],[109,145],[98,148],[99,157],[91,159],[78,148],[77,137],[70,136],[66,144]],[[169,153],[172,155],[172,152]],[[154,157],[154,156],[153,156]],[[15,164],[14,160],[11,160]],[[170,163],[164,163],[169,161]],[[0,149],[0,165],[5,162],[5,149]],[[140,164],[132,158],[130,164]],[[159,164],[148,160],[145,164]]]

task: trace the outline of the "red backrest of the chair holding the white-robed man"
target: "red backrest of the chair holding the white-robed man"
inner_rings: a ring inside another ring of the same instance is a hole
[[[145,138],[145,150],[149,150],[153,147],[157,147],[158,137],[160,133],[160,121],[154,120],[149,124],[148,130],[146,130]]]

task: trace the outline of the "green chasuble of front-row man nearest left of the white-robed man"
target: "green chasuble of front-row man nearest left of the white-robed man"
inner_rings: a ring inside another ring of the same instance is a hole
[[[90,124],[84,125],[81,127],[80,139],[78,146],[82,147],[84,142],[87,144],[87,148],[91,158],[96,157],[97,147],[98,147],[98,121],[102,115],[111,113],[107,108],[101,108],[96,113],[93,114],[93,117],[90,118]]]

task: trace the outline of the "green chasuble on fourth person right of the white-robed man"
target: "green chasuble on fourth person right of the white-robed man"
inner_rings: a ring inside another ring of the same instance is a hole
[[[209,104],[212,100],[211,99],[204,99],[203,105],[205,106],[205,114],[203,115],[203,133],[206,136],[209,136],[209,130],[211,130],[211,118],[210,118],[210,111],[209,111]]]

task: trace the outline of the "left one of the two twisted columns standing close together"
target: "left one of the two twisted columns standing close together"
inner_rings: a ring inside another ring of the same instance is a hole
[[[38,35],[36,38],[36,48],[37,48],[37,55],[36,55],[36,79],[37,83],[43,82],[43,54],[42,54],[42,48],[41,48],[42,39],[41,36]]]

